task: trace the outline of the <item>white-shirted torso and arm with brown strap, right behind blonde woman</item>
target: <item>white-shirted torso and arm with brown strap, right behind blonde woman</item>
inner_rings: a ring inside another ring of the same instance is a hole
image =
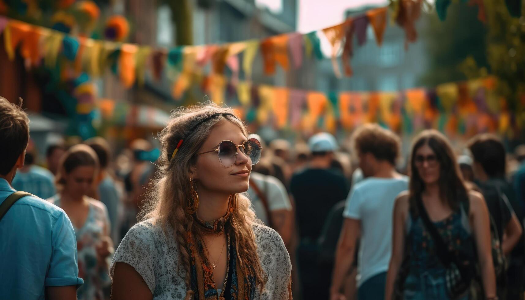
[[[273,176],[251,172],[248,194],[257,218],[275,229],[288,245],[292,231],[292,205],[285,186]]]

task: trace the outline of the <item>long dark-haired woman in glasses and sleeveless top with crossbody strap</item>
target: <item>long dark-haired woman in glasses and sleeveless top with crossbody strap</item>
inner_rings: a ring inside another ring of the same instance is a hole
[[[409,172],[409,191],[394,205],[385,298],[497,299],[485,200],[465,188],[441,133],[416,137]],[[484,296],[474,292],[477,277]]]

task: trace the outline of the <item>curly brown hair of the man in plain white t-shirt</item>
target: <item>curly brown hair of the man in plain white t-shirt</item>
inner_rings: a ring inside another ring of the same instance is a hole
[[[356,153],[371,153],[377,160],[385,160],[395,165],[400,153],[401,139],[394,132],[377,124],[366,124],[352,135]]]

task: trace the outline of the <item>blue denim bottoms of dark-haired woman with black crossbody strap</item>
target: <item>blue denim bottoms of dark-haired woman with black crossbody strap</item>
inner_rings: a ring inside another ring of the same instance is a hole
[[[447,285],[442,272],[424,271],[419,274],[409,274],[405,280],[404,300],[447,300]],[[453,300],[468,300],[467,295]]]

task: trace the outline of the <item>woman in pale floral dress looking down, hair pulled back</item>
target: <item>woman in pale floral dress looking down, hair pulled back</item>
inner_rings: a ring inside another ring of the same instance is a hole
[[[77,290],[79,299],[104,299],[103,289],[111,283],[108,257],[113,243],[108,210],[86,195],[94,188],[98,168],[97,154],[89,146],[69,148],[59,163],[59,193],[48,199],[66,212],[75,229],[78,273],[84,280]]]

